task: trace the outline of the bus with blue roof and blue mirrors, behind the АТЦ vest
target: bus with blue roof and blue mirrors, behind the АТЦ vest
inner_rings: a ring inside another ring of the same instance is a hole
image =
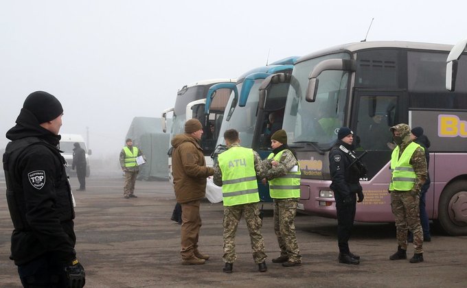
[[[224,132],[228,129],[236,129],[239,132],[242,147],[255,149],[262,158],[271,153],[271,142],[265,135],[266,126],[269,124],[268,119],[271,118],[269,114],[274,113],[275,125],[279,129],[282,128],[288,84],[276,85],[270,91],[268,106],[263,110],[258,110],[258,88],[264,78],[273,73],[284,72],[290,75],[293,62],[296,59],[297,57],[284,58],[267,66],[252,69],[238,77],[236,84],[229,85],[232,94],[225,108],[226,112],[218,132],[217,147],[219,149],[214,152],[214,158],[217,154],[225,151]],[[212,97],[213,93],[218,93],[217,88],[226,88],[226,85],[213,86],[207,99]],[[205,110],[205,112],[209,113],[209,110]],[[258,183],[258,186],[260,200],[272,202],[269,187],[264,186],[261,182]]]

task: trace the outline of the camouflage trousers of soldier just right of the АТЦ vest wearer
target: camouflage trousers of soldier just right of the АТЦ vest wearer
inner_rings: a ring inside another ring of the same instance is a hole
[[[294,224],[297,206],[298,198],[274,199],[274,232],[280,255],[287,256],[289,261],[301,263]]]

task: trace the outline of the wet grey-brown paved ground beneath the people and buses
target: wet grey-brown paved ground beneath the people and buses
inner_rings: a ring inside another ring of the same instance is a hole
[[[71,178],[77,187],[76,178]],[[299,215],[295,221],[303,265],[271,263],[279,255],[271,204],[262,234],[268,271],[253,263],[247,228],[236,239],[234,273],[222,272],[223,206],[202,203],[200,250],[205,265],[181,265],[180,226],[170,220],[175,197],[168,182],[137,181],[138,198],[122,197],[122,178],[88,178],[87,191],[75,192],[76,250],[87,275],[86,287],[467,287],[467,237],[433,232],[424,244],[424,263],[389,261],[397,248],[394,224],[356,223],[350,240],[360,265],[337,261],[336,220]],[[0,287],[21,287],[8,259],[12,224],[0,179]],[[413,254],[409,247],[407,253]]]

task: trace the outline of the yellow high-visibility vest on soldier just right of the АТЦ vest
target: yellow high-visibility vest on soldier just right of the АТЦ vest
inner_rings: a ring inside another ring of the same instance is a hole
[[[275,156],[271,153],[269,154],[268,159],[274,157],[274,160],[280,162],[280,158],[284,151],[286,150],[282,150]],[[297,167],[297,172],[288,171],[284,176],[269,180],[269,195],[271,195],[271,198],[285,199],[300,197],[300,165],[297,164]]]

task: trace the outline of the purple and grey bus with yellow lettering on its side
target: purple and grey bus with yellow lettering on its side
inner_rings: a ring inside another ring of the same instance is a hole
[[[452,45],[360,42],[310,53],[295,62],[283,128],[301,167],[299,211],[336,217],[329,152],[341,126],[354,133],[368,167],[356,221],[394,221],[388,193],[394,143],[389,128],[421,126],[431,141],[426,211],[449,235],[467,235],[467,82],[446,91]],[[457,69],[467,72],[467,58]],[[275,79],[277,78],[277,79]],[[274,75],[270,82],[284,79]],[[379,122],[379,123],[378,123]],[[373,129],[376,128],[376,129]]]

